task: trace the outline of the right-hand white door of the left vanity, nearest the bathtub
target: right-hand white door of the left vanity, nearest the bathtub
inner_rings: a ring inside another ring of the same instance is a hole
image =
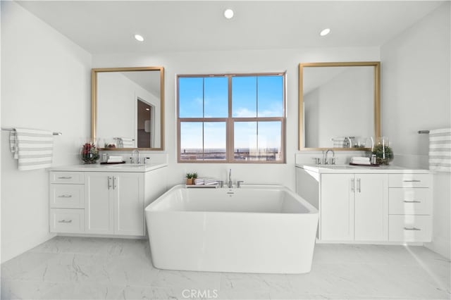
[[[144,175],[115,173],[114,233],[144,235]]]

